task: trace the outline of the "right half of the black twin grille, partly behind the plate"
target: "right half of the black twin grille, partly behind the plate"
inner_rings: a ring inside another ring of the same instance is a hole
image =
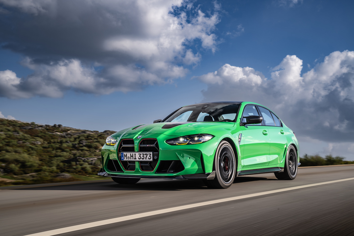
[[[139,161],[142,171],[154,171],[159,161],[159,144],[155,138],[145,138],[139,143],[139,151],[153,152],[153,161]]]

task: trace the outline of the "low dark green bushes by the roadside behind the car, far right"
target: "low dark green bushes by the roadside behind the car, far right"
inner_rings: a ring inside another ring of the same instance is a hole
[[[332,155],[327,155],[325,158],[314,155],[308,156],[305,154],[303,157],[300,157],[301,166],[330,166],[330,165],[345,165],[345,164],[354,164],[354,161],[345,161],[344,157]]]

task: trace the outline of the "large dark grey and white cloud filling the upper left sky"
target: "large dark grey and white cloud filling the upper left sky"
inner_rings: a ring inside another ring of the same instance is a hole
[[[208,13],[184,0],[0,0],[0,8],[0,45],[34,70],[0,72],[8,98],[139,90],[185,76],[198,50],[218,44],[218,4]]]

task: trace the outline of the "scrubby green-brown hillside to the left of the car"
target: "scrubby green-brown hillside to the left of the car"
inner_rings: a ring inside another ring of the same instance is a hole
[[[0,185],[97,179],[102,145],[114,132],[0,119]]]

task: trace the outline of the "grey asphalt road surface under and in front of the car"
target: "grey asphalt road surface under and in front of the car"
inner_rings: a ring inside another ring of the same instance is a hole
[[[0,190],[0,235],[22,236],[192,203],[354,177],[354,166],[300,168],[295,180],[239,177],[228,189],[199,180],[149,180]],[[354,235],[354,180],[142,217],[69,235]]]

